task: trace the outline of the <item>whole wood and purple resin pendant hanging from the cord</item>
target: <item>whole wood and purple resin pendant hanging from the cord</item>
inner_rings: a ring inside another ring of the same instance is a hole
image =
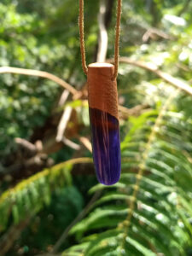
[[[119,181],[121,168],[117,82],[112,78],[112,64],[89,65],[88,100],[93,159],[98,181],[105,185]]]

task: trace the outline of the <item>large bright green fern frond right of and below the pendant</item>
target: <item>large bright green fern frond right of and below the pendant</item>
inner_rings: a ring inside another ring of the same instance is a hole
[[[102,197],[71,230],[86,241],[79,255],[180,256],[192,245],[192,123],[185,109],[174,109],[177,96],[179,90],[161,108],[131,119],[119,183],[91,188]]]

